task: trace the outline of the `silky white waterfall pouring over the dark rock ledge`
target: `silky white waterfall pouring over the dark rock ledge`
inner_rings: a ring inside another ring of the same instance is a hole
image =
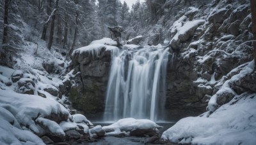
[[[168,48],[155,47],[113,53],[105,121],[127,117],[161,119],[168,54]]]

